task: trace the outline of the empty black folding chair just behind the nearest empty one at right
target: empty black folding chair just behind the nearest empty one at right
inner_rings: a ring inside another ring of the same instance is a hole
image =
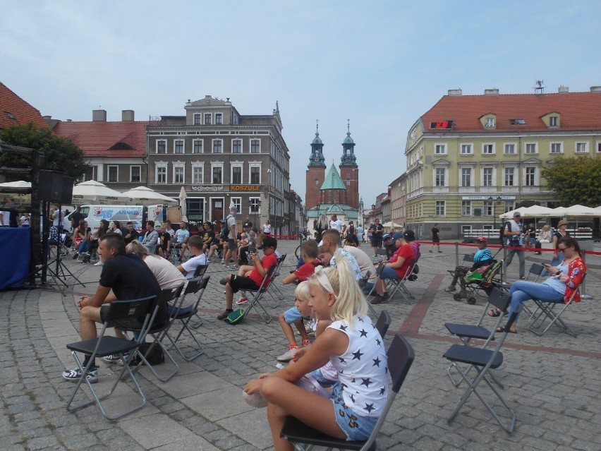
[[[507,311],[507,308],[509,308],[509,301],[509,296],[504,291],[502,291],[502,289],[494,288],[492,289],[490,296],[488,296],[488,302],[486,303],[486,306],[484,307],[484,310],[480,315],[478,323],[476,323],[475,325],[444,323],[444,326],[447,327],[451,334],[459,337],[459,339],[461,339],[461,342],[463,342],[463,344],[465,344],[466,346],[470,346],[470,342],[472,339],[485,340],[485,342],[482,344],[482,349],[485,349],[488,347],[488,344],[490,344],[490,342],[494,340],[494,333],[497,332],[497,327],[499,327],[499,325],[501,324],[501,321],[503,320],[503,315],[499,315],[497,317],[497,322],[494,323],[492,331],[482,326],[482,320],[484,320],[484,318],[487,317],[486,313],[490,306],[499,308],[499,310],[502,312]],[[455,385],[455,387],[459,387],[459,385],[461,384],[461,380],[455,380],[453,374],[451,373],[451,370],[453,368],[454,365],[453,363],[451,363],[449,365],[449,368],[447,368],[447,373],[449,373],[449,378],[451,378],[451,382],[453,383],[453,385]],[[470,370],[471,368],[467,368],[466,373],[468,373]],[[492,373],[490,373],[490,376],[492,380],[494,380],[494,382],[496,382],[497,385],[499,385],[499,387],[503,388],[503,385],[499,382],[499,380],[494,378],[494,375]]]

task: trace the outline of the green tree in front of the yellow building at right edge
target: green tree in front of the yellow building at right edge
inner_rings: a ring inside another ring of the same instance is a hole
[[[552,165],[543,167],[541,174],[564,206],[601,205],[600,158],[557,158]]]

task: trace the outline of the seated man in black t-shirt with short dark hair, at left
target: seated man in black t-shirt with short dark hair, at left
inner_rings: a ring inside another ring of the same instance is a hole
[[[147,267],[144,260],[137,255],[128,254],[125,251],[125,242],[119,234],[106,234],[99,239],[98,251],[100,260],[104,263],[100,282],[96,292],[92,296],[81,296],[78,301],[80,311],[80,334],[81,339],[94,339],[97,337],[96,323],[104,323],[108,312],[107,304],[116,299],[140,299],[147,296],[160,296],[161,287],[159,282]],[[112,291],[112,292],[111,292]],[[154,318],[154,325],[164,323],[169,318],[166,307],[159,308]],[[139,318],[144,320],[144,318]],[[124,329],[139,329],[142,322],[138,318],[128,321],[116,321],[112,327],[123,327]],[[119,329],[116,335],[123,337]],[[85,368],[90,356],[86,355],[82,363]],[[80,369],[63,371],[63,378],[71,382],[77,382],[80,378]],[[87,373],[90,383],[98,380],[98,369],[95,362],[90,366]]]

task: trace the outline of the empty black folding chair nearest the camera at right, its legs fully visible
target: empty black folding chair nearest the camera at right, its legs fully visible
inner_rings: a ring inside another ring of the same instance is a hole
[[[503,329],[504,332],[501,335],[499,341],[497,342],[497,347],[495,347],[494,349],[482,349],[471,346],[464,346],[463,344],[454,344],[447,350],[447,352],[443,354],[444,358],[451,361],[451,364],[459,372],[461,378],[463,378],[463,380],[465,380],[466,383],[468,383],[469,385],[466,391],[463,393],[463,396],[461,397],[461,399],[459,399],[459,402],[457,402],[455,408],[451,412],[451,416],[449,416],[447,423],[451,423],[451,421],[453,421],[456,414],[459,412],[459,409],[463,407],[463,404],[466,403],[470,395],[472,393],[475,393],[478,399],[480,399],[482,404],[484,404],[484,406],[490,412],[492,417],[497,421],[497,423],[499,423],[499,425],[503,428],[503,430],[506,433],[510,434],[514,431],[514,427],[516,426],[516,414],[511,409],[511,407],[509,407],[509,404],[507,404],[507,402],[499,393],[499,391],[496,388],[494,388],[494,385],[492,385],[488,375],[491,368],[496,369],[503,364],[503,354],[501,352],[501,347],[503,346],[507,334],[509,333],[509,330],[514,324],[517,316],[517,312],[511,313],[511,315],[509,316],[509,320],[507,321],[507,324]],[[463,371],[463,368],[461,368],[461,363],[467,363],[469,365],[468,370],[469,368],[475,368],[477,373],[476,377],[470,379],[468,377],[468,371]],[[490,387],[490,390],[492,390],[494,395],[496,395],[497,398],[499,398],[499,401],[502,402],[505,409],[509,412],[510,421],[508,424],[504,424],[504,422],[499,417],[494,408],[490,404],[488,404],[488,402],[486,402],[484,397],[482,397],[482,395],[478,391],[478,384],[482,380],[485,381],[485,383]]]

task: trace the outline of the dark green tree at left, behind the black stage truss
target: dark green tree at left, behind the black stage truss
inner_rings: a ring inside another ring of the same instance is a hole
[[[25,126],[8,127],[0,134],[0,142],[23,148],[44,150],[48,155],[47,169],[64,172],[75,179],[88,169],[83,150],[71,140],[54,135],[49,128],[37,128],[32,123]],[[2,152],[0,154],[1,166],[30,168],[31,160],[25,155]]]

